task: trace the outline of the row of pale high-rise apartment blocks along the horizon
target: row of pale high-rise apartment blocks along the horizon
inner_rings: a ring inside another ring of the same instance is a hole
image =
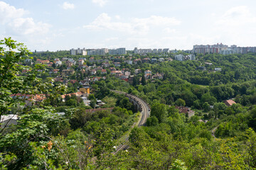
[[[169,50],[169,48],[164,49],[138,49],[134,48],[134,54],[146,55],[146,54],[161,54],[161,53],[177,53],[180,50]],[[222,43],[218,43],[216,45],[193,45],[193,50],[181,50],[182,52],[186,52],[188,54],[221,54],[221,55],[233,55],[233,54],[247,54],[248,52],[256,52],[256,47],[238,47],[237,45],[223,45]],[[70,55],[126,55],[127,50],[125,47],[120,47],[117,49],[71,49]],[[191,58],[191,56],[190,56]],[[193,57],[192,57],[193,58]]]

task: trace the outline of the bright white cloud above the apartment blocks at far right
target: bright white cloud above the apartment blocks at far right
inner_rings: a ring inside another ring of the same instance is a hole
[[[235,6],[223,15],[215,16],[212,32],[229,44],[252,45],[256,36],[256,17],[248,6]]]

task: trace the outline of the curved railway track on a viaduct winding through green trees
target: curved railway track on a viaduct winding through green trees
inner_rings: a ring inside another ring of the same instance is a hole
[[[137,104],[139,105],[139,111],[142,113],[141,119],[138,120],[139,122],[138,126],[142,126],[146,124],[146,118],[149,118],[149,115],[150,115],[150,106],[148,103],[146,103],[146,101],[132,94],[126,94],[123,91],[116,91],[116,90],[110,90],[110,91],[117,94],[124,94],[128,98],[132,98],[134,101],[136,101]],[[128,142],[128,140],[129,140],[129,137],[125,139],[126,142]],[[128,145],[119,145],[115,153],[119,152],[120,150],[127,149],[128,147],[129,147]]]

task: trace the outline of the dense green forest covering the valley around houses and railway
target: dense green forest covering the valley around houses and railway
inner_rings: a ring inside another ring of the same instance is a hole
[[[61,96],[77,92],[82,87],[79,81],[100,77],[100,72],[93,76],[73,65],[75,73],[60,78],[78,81],[63,83],[53,81],[60,75],[50,71],[67,69],[65,64],[26,63],[81,56],[68,51],[32,54],[11,38],[0,45],[0,115],[19,117],[17,125],[1,126],[0,169],[256,169],[256,54],[208,54],[193,61],[137,64],[124,60],[159,56],[94,56],[110,59],[110,67],[118,70],[142,72],[129,82],[105,68],[105,79],[90,82],[91,102],[85,106],[79,96],[67,96],[65,101]],[[174,59],[174,54],[161,57]],[[97,68],[98,60],[86,65]],[[163,77],[145,79],[146,70]],[[145,126],[134,126],[140,113],[127,97],[111,89],[149,103]],[[36,94],[46,98],[28,105],[26,95]],[[109,110],[90,113],[97,100]],[[225,100],[235,103],[227,106]],[[179,107],[193,115],[181,113]],[[127,135],[129,147],[115,152]]]

